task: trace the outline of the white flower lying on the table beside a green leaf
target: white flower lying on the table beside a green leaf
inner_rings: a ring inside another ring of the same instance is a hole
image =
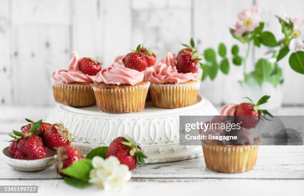
[[[120,164],[115,156],[107,159],[95,156],[92,165],[94,168],[90,171],[89,182],[100,189],[121,191],[131,179],[128,166]]]

